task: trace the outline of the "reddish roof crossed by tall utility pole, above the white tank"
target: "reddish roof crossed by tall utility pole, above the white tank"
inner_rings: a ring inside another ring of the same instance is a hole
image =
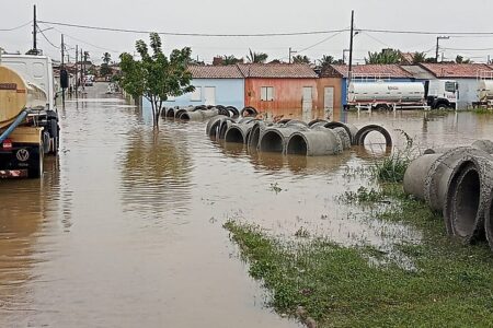
[[[347,65],[332,65],[336,73],[347,78],[349,68]],[[388,77],[395,79],[409,79],[413,75],[399,65],[356,65],[353,66],[353,74],[368,77]]]

